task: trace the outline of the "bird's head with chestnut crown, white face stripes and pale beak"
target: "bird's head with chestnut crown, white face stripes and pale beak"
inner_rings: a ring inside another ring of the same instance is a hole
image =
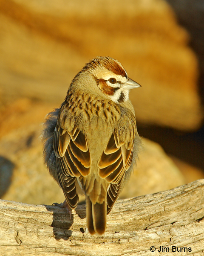
[[[92,81],[88,83],[91,74]],[[129,97],[129,90],[141,87],[140,84],[127,76],[125,68],[119,61],[111,57],[97,57],[90,60],[77,77],[84,76],[84,81],[93,92],[108,97],[113,102],[122,103]],[[94,79],[94,80],[93,80]],[[96,85],[96,86],[95,86]],[[85,89],[85,87],[84,87]]]

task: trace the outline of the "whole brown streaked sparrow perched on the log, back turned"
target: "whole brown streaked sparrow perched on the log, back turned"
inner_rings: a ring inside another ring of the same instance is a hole
[[[44,124],[44,159],[70,209],[77,183],[86,195],[91,234],[105,232],[111,211],[130,177],[141,140],[129,90],[140,85],[110,57],[89,61],[75,76],[65,101]]]

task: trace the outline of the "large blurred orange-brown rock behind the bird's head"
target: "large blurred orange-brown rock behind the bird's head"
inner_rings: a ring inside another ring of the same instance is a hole
[[[188,41],[164,0],[0,0],[1,94],[60,104],[88,59],[110,55],[142,84],[130,93],[139,122],[195,130],[203,112]]]

